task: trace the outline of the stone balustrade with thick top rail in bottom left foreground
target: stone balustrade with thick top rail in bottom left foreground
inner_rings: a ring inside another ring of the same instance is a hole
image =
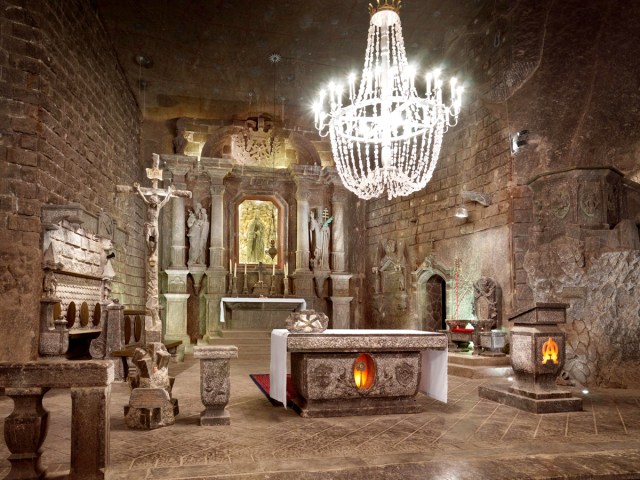
[[[111,361],[0,362],[0,389],[14,402],[5,419],[4,438],[11,452],[7,479],[44,478],[42,445],[49,412],[42,399],[51,388],[71,390],[71,480],[104,479],[109,464]]]

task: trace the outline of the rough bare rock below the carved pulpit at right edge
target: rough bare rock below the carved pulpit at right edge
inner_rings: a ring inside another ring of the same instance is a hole
[[[640,250],[585,261],[585,244],[560,237],[525,256],[539,302],[567,302],[565,370],[585,385],[637,387],[640,367]]]

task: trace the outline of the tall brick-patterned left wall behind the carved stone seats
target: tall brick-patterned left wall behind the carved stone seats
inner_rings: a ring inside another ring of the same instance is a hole
[[[26,361],[38,351],[42,205],[77,202],[127,225],[114,268],[127,303],[141,303],[141,205],[115,198],[116,179],[142,178],[139,109],[90,2],[8,0],[0,32],[0,359]]]

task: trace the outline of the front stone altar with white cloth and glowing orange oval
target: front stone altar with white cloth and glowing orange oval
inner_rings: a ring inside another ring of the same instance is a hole
[[[447,337],[418,330],[271,332],[270,396],[286,406],[287,353],[303,417],[418,413],[447,401]]]

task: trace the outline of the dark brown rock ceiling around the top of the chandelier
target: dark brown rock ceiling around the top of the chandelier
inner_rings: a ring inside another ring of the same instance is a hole
[[[372,0],[373,1],[373,0]],[[424,69],[486,0],[406,0],[407,56]],[[331,78],[360,71],[367,0],[94,0],[145,114],[181,105],[307,109]],[[280,61],[273,62],[273,54]],[[182,109],[188,115],[187,107]]]

